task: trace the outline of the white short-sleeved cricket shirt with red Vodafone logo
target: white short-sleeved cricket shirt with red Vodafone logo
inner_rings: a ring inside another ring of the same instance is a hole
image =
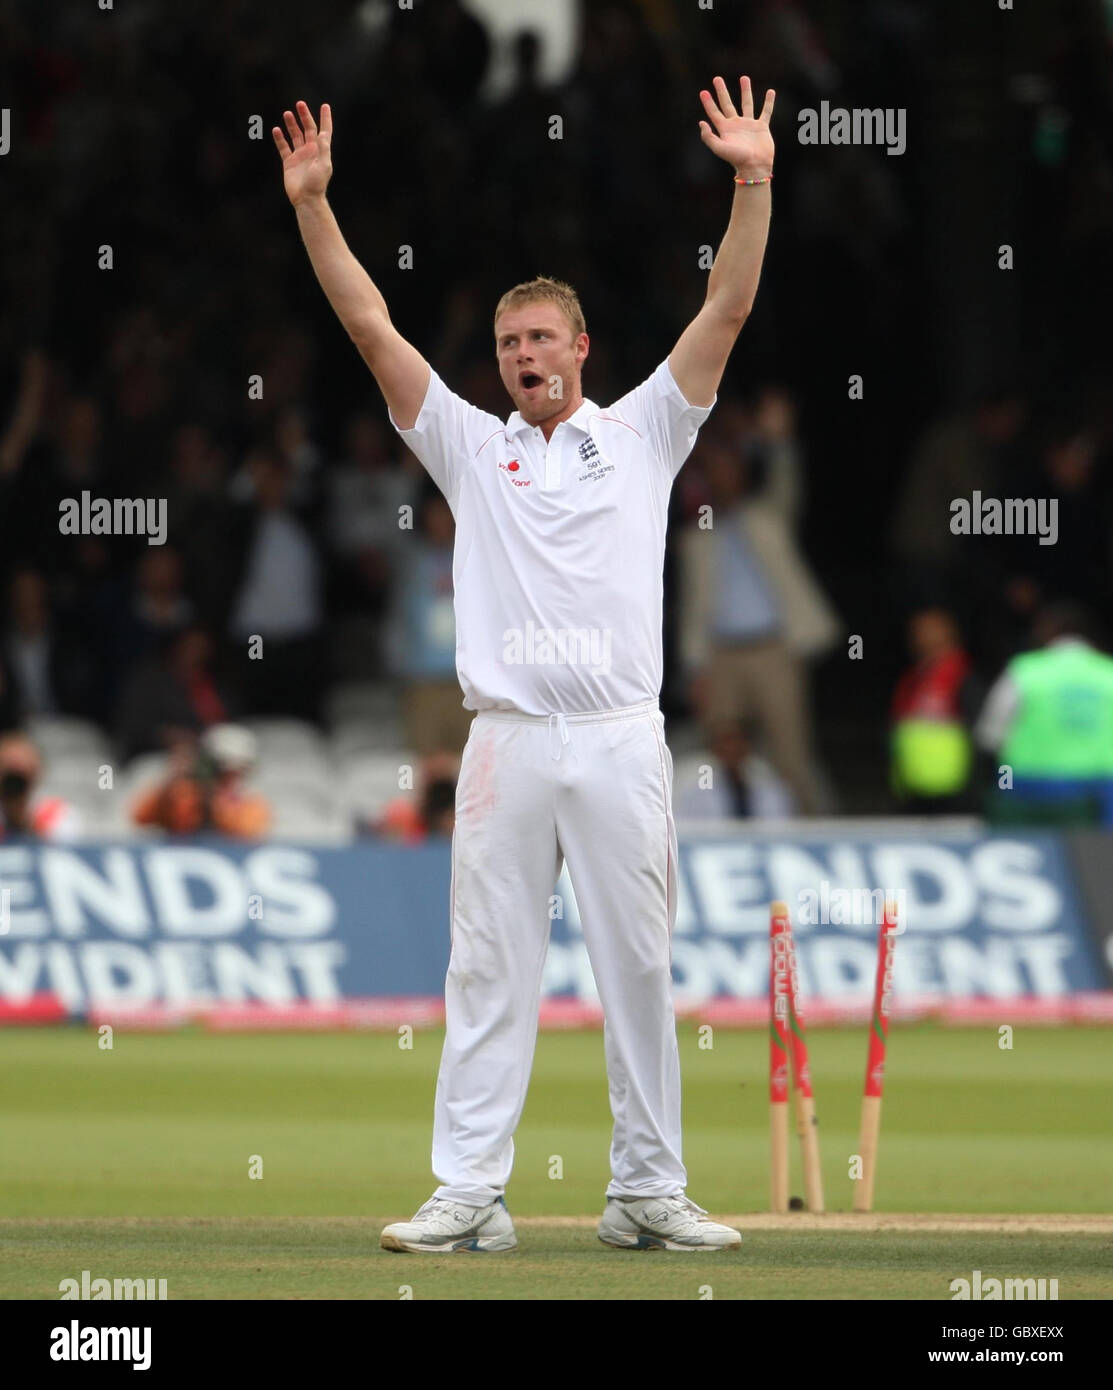
[[[657,699],[668,493],[713,407],[691,406],[666,360],[609,409],[585,400],[547,445],[517,410],[503,424],[435,371],[413,430],[390,418],[456,517],[467,709]]]

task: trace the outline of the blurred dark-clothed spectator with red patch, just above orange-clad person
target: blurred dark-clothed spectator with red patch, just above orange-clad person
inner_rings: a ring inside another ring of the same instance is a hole
[[[117,720],[124,759],[161,752],[182,733],[226,720],[229,696],[214,674],[214,646],[196,624],[172,634],[131,677]]]

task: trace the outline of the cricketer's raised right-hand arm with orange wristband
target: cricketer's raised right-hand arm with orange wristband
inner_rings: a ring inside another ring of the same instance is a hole
[[[768,179],[773,177],[770,117],[774,92],[766,93],[761,114],[755,120],[749,78],[741,81],[741,115],[723,78],[716,78],[714,86],[714,97],[700,92],[710,120],[710,125],[699,122],[700,138],[707,149],[734,167],[736,179],[760,182],[735,185],[727,235],[707,277],[707,299],[668,357],[673,377],[692,406],[710,406],[714,400],[727,359],[753,307],[773,206]]]

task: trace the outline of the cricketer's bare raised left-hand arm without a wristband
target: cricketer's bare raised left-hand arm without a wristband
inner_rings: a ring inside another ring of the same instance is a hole
[[[297,213],[310,261],[360,356],[379,384],[395,424],[411,430],[429,386],[429,364],[390,322],[386,300],[347,247],[325,190],[332,178],[332,111],[321,107],[321,129],[304,101],[283,111],[286,135],[271,129],[282,156],[282,182]],[[288,139],[289,136],[289,139]]]

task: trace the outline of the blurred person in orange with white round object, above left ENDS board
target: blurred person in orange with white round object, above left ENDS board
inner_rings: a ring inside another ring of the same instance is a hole
[[[265,834],[271,812],[263,796],[243,787],[254,763],[254,734],[238,724],[214,724],[196,745],[179,738],[171,751],[170,776],[139,796],[132,820],[175,835],[257,840]]]

